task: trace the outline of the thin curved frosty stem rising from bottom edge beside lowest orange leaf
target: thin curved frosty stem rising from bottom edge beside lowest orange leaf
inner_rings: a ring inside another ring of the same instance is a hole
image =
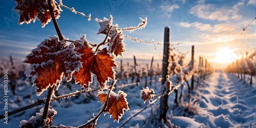
[[[113,84],[111,85],[111,87],[110,87],[110,89],[109,89],[108,96],[106,97],[105,104],[104,104],[104,106],[101,108],[101,110],[99,111],[99,113],[98,113],[93,119],[89,120],[89,121],[88,121],[87,123],[85,123],[85,124],[82,124],[82,125],[78,126],[77,128],[83,128],[83,127],[89,125],[89,124],[92,123],[92,122],[94,122],[94,123],[97,122],[97,120],[98,120],[98,118],[100,117],[100,115],[107,109],[106,106],[108,106],[108,103],[109,103],[110,92],[113,90],[113,87],[114,87],[114,85],[116,84],[116,81],[117,81],[117,80],[115,79],[114,82],[113,82]]]

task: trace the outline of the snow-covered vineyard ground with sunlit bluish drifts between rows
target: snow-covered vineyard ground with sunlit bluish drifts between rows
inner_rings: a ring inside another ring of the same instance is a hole
[[[156,78],[157,79],[157,78]],[[144,78],[141,79],[143,81]],[[174,104],[175,94],[171,94],[168,98],[169,110],[167,123],[158,121],[159,117],[159,101],[149,106],[139,115],[128,121],[124,127],[256,127],[256,84],[252,87],[236,76],[217,71],[210,74],[206,79],[199,83],[194,92],[190,96],[190,100],[184,96],[184,101],[177,108]],[[127,82],[127,81],[126,81]],[[18,80],[17,96],[12,96],[9,90],[8,98],[8,112],[19,109],[23,106],[33,103],[33,100],[42,99],[46,97],[44,92],[40,97],[36,96],[35,87],[30,86],[30,82]],[[117,82],[117,87],[123,84],[122,80]],[[125,82],[124,82],[125,84]],[[67,84],[61,85],[58,91],[59,95],[74,92],[79,90],[79,85],[70,85],[71,90]],[[0,113],[4,114],[4,89],[3,82],[0,83]],[[124,121],[131,116],[138,113],[148,102],[140,99],[140,90],[145,87],[145,83],[138,86],[127,86],[117,88],[124,91],[129,102],[130,111],[125,111],[119,123],[114,122],[109,114],[101,115],[96,127],[119,127]],[[159,93],[161,87],[160,82],[153,82],[152,86],[148,86]],[[98,88],[96,83],[91,85],[92,89]],[[186,86],[183,90],[187,90]],[[57,111],[54,116],[53,125],[68,125],[78,126],[87,122],[97,114],[100,110],[100,102],[96,97],[97,92],[90,94],[80,94],[76,97],[60,99],[51,103],[51,106]],[[155,97],[156,98],[156,97]],[[0,127],[18,127],[19,122],[23,119],[28,120],[32,115],[43,107],[43,105],[36,106],[29,110],[20,112],[18,114],[8,117],[8,124],[0,121]],[[185,116],[185,117],[184,117]]]

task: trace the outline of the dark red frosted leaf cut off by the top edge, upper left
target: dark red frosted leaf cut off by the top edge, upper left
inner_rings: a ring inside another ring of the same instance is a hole
[[[35,22],[35,19],[41,21],[42,27],[44,28],[51,21],[51,15],[49,12],[49,7],[47,0],[14,0],[17,2],[17,5],[14,9],[19,14],[18,24],[22,25],[23,23],[29,24],[31,20]],[[55,18],[59,18],[60,11],[62,11],[59,5],[52,3],[53,13]]]

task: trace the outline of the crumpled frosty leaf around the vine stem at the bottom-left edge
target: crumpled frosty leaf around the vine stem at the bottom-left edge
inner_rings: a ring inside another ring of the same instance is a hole
[[[44,112],[44,108],[40,110],[40,113],[36,113],[36,116],[32,116],[29,118],[29,120],[22,120],[20,121],[19,127],[25,128],[25,127],[40,127],[42,124],[46,124],[51,126],[52,120],[54,115],[57,114],[57,111],[54,109],[48,110],[48,116],[47,119],[44,121],[42,120],[42,113]]]

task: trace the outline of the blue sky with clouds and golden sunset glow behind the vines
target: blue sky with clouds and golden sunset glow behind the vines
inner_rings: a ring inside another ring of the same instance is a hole
[[[207,58],[214,68],[224,68],[224,62],[241,58],[246,51],[252,52],[256,47],[256,21],[236,39],[256,16],[255,0],[62,0],[62,3],[99,19],[113,15],[113,23],[118,24],[119,28],[137,26],[139,17],[147,17],[145,28],[131,33],[123,32],[143,40],[154,39],[162,43],[164,27],[170,26],[171,43],[182,42],[176,48],[185,53],[191,45],[195,45],[195,57],[201,55]],[[18,25],[19,16],[13,10],[15,4],[14,1],[4,1],[0,5],[0,54],[1,58],[12,55],[21,62],[41,41],[57,34],[52,22],[45,28],[41,28],[39,20]],[[104,39],[104,35],[96,34],[99,29],[97,22],[88,21],[65,8],[62,10],[57,22],[66,38],[75,40],[86,34],[89,42],[99,43]],[[124,43],[126,52],[123,58],[132,58],[133,55],[140,59],[150,59],[152,56],[158,60],[162,58],[163,45],[156,45],[158,52],[153,44],[142,44],[125,37]],[[190,53],[187,57],[190,58]]]

